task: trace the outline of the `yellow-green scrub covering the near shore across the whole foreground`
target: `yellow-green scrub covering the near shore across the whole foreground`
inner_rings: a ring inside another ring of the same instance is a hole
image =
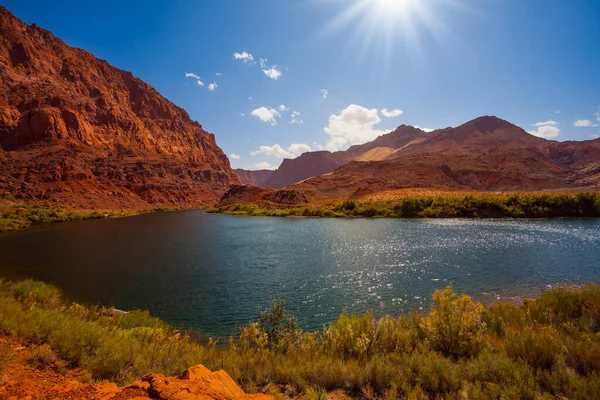
[[[40,349],[40,360],[51,349],[65,368],[118,383],[202,363],[279,399],[334,390],[367,399],[600,398],[598,286],[555,288],[522,306],[486,308],[450,288],[433,300],[427,315],[343,314],[315,332],[274,300],[222,349],[144,311],[68,303],[41,282],[2,282],[0,334]]]

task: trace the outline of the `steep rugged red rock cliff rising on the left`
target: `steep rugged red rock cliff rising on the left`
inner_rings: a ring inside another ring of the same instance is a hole
[[[239,179],[155,89],[0,7],[0,195],[85,207],[208,204]]]

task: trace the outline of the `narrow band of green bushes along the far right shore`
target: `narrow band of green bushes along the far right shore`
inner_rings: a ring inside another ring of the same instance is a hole
[[[561,218],[600,217],[600,193],[477,193],[405,196],[373,202],[345,200],[332,205],[236,204],[207,210],[230,215],[275,217],[388,218]]]

